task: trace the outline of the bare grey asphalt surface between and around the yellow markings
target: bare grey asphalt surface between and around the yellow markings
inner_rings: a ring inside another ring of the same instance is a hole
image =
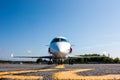
[[[78,72],[76,74],[82,76],[101,76],[106,74],[120,74],[120,64],[65,64],[65,68],[56,69],[56,65],[41,65],[41,64],[0,64],[0,73],[10,71],[23,70],[46,70],[55,69],[51,71],[26,72],[19,74],[12,74],[18,76],[42,76],[43,80],[55,80],[52,75],[56,72],[68,71],[68,69],[93,69],[85,72]],[[11,75],[11,74],[9,74]],[[12,80],[12,79],[0,79]]]

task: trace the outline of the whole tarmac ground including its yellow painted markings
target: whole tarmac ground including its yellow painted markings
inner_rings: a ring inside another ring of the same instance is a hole
[[[0,64],[0,80],[120,80],[120,64]]]

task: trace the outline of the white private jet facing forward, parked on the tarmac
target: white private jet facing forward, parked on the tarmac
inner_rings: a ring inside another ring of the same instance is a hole
[[[72,53],[72,46],[66,37],[55,37],[49,45],[50,56],[13,56],[14,58],[49,58],[49,63],[62,64],[65,59],[69,59],[69,64],[73,64],[73,58],[90,58],[89,56],[68,56]],[[92,56],[96,57],[96,56]],[[97,56],[98,57],[98,56]]]

